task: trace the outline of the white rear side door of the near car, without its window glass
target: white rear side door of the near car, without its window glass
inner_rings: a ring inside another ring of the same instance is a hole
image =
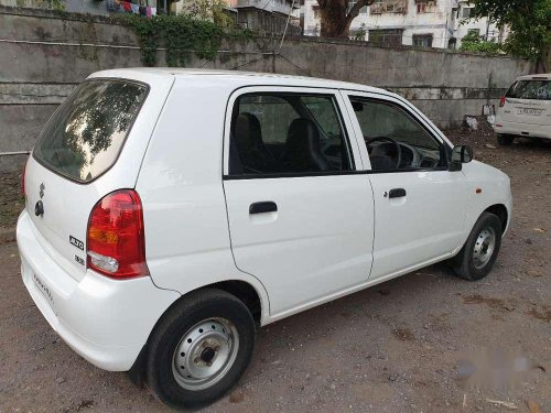
[[[237,268],[259,279],[268,291],[272,318],[366,283],[372,263],[374,203],[367,175],[355,171],[228,175],[236,99],[282,90],[331,95],[341,108],[343,127],[350,129],[342,113],[342,97],[333,89],[255,87],[230,98],[224,191],[231,250]],[[255,105],[247,109],[259,118],[270,110]],[[356,142],[348,146],[356,166],[361,167]]]

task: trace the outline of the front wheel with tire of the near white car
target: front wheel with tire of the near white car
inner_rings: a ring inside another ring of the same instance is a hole
[[[501,247],[501,221],[483,213],[473,227],[460,253],[452,259],[454,272],[468,281],[484,279],[491,271]]]

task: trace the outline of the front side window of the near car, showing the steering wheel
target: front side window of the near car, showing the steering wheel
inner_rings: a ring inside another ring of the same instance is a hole
[[[353,97],[374,171],[444,166],[440,143],[400,107]]]

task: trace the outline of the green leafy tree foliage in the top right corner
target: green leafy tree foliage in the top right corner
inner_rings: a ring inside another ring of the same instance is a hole
[[[509,26],[504,48],[511,55],[536,62],[537,72],[548,72],[551,52],[551,0],[472,0],[474,15],[488,17],[498,26]],[[547,61],[547,63],[545,63]]]

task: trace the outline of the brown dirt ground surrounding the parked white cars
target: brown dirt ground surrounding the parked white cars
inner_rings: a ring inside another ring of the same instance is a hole
[[[206,411],[551,412],[551,145],[500,148],[487,129],[449,135],[512,181],[512,226],[490,275],[471,283],[437,264],[267,326],[244,379]],[[21,208],[4,205],[6,191],[0,226]],[[516,384],[467,385],[460,360],[484,349],[525,357],[529,371]],[[52,332],[14,242],[0,244],[0,412],[168,411]]]

